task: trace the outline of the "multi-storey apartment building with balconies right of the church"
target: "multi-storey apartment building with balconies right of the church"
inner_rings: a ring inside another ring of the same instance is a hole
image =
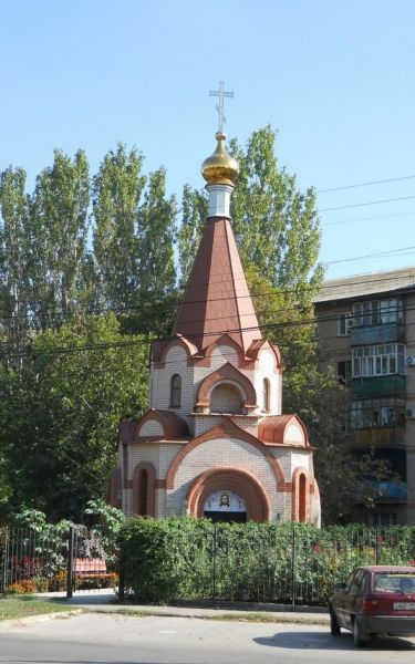
[[[325,281],[315,301],[324,362],[350,394],[350,445],[387,459],[371,525],[415,525],[415,267]]]

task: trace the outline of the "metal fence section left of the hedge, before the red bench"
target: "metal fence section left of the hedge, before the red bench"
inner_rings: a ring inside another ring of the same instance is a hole
[[[0,529],[0,593],[56,592],[114,588],[116,566],[93,532]]]

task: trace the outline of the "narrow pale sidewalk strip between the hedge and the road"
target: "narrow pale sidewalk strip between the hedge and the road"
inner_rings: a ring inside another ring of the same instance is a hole
[[[141,615],[163,615],[180,618],[227,620],[235,615],[236,620],[248,619],[252,621],[252,613],[258,614],[258,621],[290,622],[300,624],[329,625],[329,612],[325,606],[288,606],[287,604],[260,604],[255,602],[195,602],[180,603],[175,606],[159,606],[153,604],[120,604],[114,592],[107,589],[75,592],[73,598],[66,600],[65,593],[44,593],[44,601],[60,599],[72,606],[89,611],[107,611],[122,613],[139,613]],[[253,621],[252,621],[253,622]]]

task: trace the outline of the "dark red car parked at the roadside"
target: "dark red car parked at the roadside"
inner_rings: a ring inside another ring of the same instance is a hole
[[[353,632],[357,646],[374,635],[415,636],[415,568],[355,568],[330,599],[331,633]]]

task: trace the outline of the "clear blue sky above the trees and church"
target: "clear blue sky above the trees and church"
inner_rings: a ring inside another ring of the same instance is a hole
[[[32,184],[53,148],[81,147],[94,173],[123,141],[146,170],[167,168],[169,191],[200,187],[208,90],[224,80],[229,137],[269,123],[279,163],[320,191],[328,277],[415,264],[413,0],[0,0],[0,170],[22,166]]]

